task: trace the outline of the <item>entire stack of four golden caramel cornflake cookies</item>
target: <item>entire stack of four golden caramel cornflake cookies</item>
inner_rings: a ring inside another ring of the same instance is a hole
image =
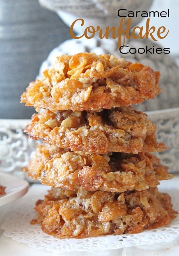
[[[130,106],[158,95],[159,77],[140,63],[79,53],[57,57],[30,83],[21,102],[39,113],[25,132],[48,144],[37,145],[23,171],[53,187],[37,201],[32,224],[55,237],[83,238],[170,223],[176,211],[157,185],[173,175],[149,153],[168,147]]]

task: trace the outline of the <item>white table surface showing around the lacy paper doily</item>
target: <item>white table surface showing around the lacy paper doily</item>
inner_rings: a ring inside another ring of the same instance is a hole
[[[179,183],[179,174],[176,175],[172,180],[162,181],[166,186],[175,185]],[[32,185],[33,186],[33,185]],[[18,199],[20,200],[20,199]],[[3,221],[3,218],[7,211],[11,209],[11,206],[16,204],[15,202],[4,205],[0,208],[0,224]],[[38,256],[50,256],[50,255],[62,255],[62,256],[135,256],[135,255],[145,255],[145,256],[175,256],[179,255],[179,238],[175,239],[170,243],[159,243],[151,244],[147,246],[133,246],[129,248],[117,249],[117,250],[108,250],[108,251],[92,251],[92,252],[69,252],[62,254],[53,254],[46,250],[37,250],[32,247],[29,247],[26,243],[19,243],[14,241],[9,237],[3,235],[3,230],[0,229],[0,255],[1,256],[19,256],[19,255],[38,255]]]

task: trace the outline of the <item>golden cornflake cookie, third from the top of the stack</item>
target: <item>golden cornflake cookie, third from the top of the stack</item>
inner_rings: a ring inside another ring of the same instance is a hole
[[[99,155],[37,145],[28,167],[22,170],[48,186],[124,192],[156,187],[158,180],[173,178],[168,169],[150,153]]]

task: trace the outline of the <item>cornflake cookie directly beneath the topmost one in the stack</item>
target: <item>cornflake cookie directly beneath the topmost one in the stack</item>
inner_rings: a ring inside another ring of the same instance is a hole
[[[71,151],[104,154],[106,152],[156,152],[168,149],[156,141],[156,125],[147,115],[132,107],[101,112],[44,110],[33,114],[24,130],[32,139],[42,139]]]

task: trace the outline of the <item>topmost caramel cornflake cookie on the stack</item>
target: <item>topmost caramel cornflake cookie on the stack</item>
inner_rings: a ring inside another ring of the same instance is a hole
[[[21,95],[26,106],[58,110],[93,110],[129,106],[159,94],[160,73],[140,63],[94,53],[57,57],[42,80],[31,82]]]

